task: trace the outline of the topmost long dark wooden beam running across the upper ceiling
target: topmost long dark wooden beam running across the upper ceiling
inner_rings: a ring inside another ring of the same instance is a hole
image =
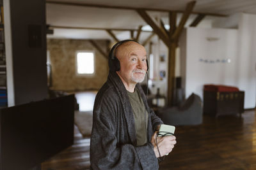
[[[146,10],[146,11],[162,11],[162,12],[169,12],[175,11],[176,13],[186,13],[186,11],[182,10],[166,10],[166,9],[159,9],[159,8],[134,8],[129,6],[113,6],[113,5],[106,5],[106,4],[88,4],[88,3],[69,3],[64,1],[46,1],[48,4],[62,4],[62,5],[71,5],[71,6],[84,6],[84,7],[93,7],[93,8],[111,8],[111,9],[118,9],[118,10]],[[202,13],[202,12],[191,12],[193,14],[205,14],[214,17],[228,17],[228,15],[218,14],[218,13]]]

